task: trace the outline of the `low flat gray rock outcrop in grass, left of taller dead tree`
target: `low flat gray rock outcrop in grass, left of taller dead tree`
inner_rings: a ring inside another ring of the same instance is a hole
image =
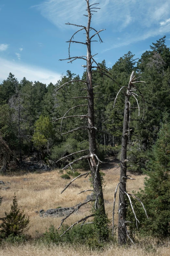
[[[63,208],[55,208],[49,209],[46,212],[41,212],[41,217],[62,217],[69,213],[71,213],[75,208],[74,207],[63,207]],[[40,210],[42,211],[42,210]]]

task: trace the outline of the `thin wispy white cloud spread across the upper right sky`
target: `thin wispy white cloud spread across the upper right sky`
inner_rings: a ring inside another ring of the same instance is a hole
[[[91,4],[93,3],[96,3],[96,0],[91,0]],[[169,26],[164,31],[160,28],[169,24],[169,0],[103,0],[98,7],[101,9],[94,13],[92,26],[109,26],[113,36],[116,34],[121,42],[110,42],[112,45],[108,49],[145,40],[162,32],[170,32]],[[83,0],[74,0],[74,3],[68,0],[46,0],[34,8],[62,29],[70,29],[70,26],[64,25],[67,22],[86,25],[87,18],[83,16],[86,14],[86,3]]]

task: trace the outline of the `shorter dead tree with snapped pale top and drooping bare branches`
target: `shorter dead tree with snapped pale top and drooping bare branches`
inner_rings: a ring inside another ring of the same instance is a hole
[[[130,239],[130,241],[133,242],[132,239],[129,237],[129,234],[128,234],[127,229],[126,229],[126,225],[127,225],[127,222],[126,222],[126,207],[127,207],[126,200],[127,200],[127,198],[130,201],[130,205],[131,205],[132,211],[133,211],[134,216],[135,216],[136,226],[137,226],[137,223],[139,223],[139,221],[138,221],[138,219],[135,215],[135,211],[134,211],[131,199],[130,199],[130,196],[134,196],[134,195],[128,194],[126,192],[126,181],[127,181],[127,179],[132,179],[132,178],[129,178],[127,176],[127,162],[128,162],[128,160],[127,160],[127,145],[128,145],[128,141],[130,141],[130,120],[131,120],[130,97],[133,96],[135,98],[135,100],[137,102],[137,108],[138,108],[138,111],[139,111],[138,115],[139,115],[140,114],[140,108],[139,108],[139,104],[138,104],[138,100],[137,100],[138,94],[136,94],[136,90],[138,90],[138,89],[135,86],[135,83],[143,82],[143,81],[137,81],[137,79],[139,77],[135,78],[134,74],[135,74],[135,72],[133,71],[132,74],[131,74],[131,77],[130,77],[128,87],[123,86],[123,87],[120,88],[120,91],[123,88],[127,89],[127,92],[125,93],[123,132],[122,132],[122,141],[121,141],[120,182],[118,183],[116,191],[115,191],[114,204],[113,204],[113,230],[114,230],[115,199],[116,199],[116,193],[117,193],[118,186],[120,186],[119,187],[119,211],[118,211],[118,213],[119,213],[118,242],[119,242],[120,245],[126,244],[127,236]],[[120,91],[118,92],[118,94],[115,98],[114,106],[115,106],[116,99],[117,99]],[[142,96],[142,94],[140,93],[139,90],[138,90],[138,92]],[[142,99],[143,99],[143,96],[142,96]],[[144,112],[143,112],[143,116],[144,116]],[[139,198],[136,198],[136,199],[140,200]],[[141,204],[142,204],[142,202],[141,202]],[[143,204],[142,204],[142,206],[144,208]],[[145,210],[145,208],[144,208],[144,210]],[[145,213],[146,213],[146,210],[145,210]],[[146,215],[147,215],[147,213],[146,213]],[[113,234],[113,230],[112,230],[112,234]]]

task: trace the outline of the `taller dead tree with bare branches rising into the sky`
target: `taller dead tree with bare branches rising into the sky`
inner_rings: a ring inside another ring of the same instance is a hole
[[[104,69],[99,67],[97,62],[94,60],[94,55],[92,55],[92,53],[91,53],[91,42],[93,41],[92,39],[93,39],[94,36],[97,35],[98,38],[99,38],[99,41],[103,42],[99,33],[101,31],[103,31],[104,29],[101,29],[101,30],[97,31],[96,29],[91,27],[91,18],[92,18],[92,15],[93,15],[92,12],[96,12],[96,10],[100,9],[100,8],[94,7],[94,5],[97,5],[97,3],[90,5],[89,0],[85,0],[85,1],[87,2],[87,15],[84,15],[84,16],[88,17],[87,26],[66,23],[67,25],[80,27],[80,29],[73,34],[73,36],[71,37],[71,39],[69,41],[67,41],[67,43],[69,43],[69,48],[68,48],[69,58],[64,59],[64,60],[68,60],[67,63],[73,62],[74,60],[77,60],[77,59],[85,60],[86,65],[82,65],[82,66],[84,68],[86,68],[87,78],[86,78],[86,80],[71,80],[71,81],[63,84],[62,86],[60,86],[56,91],[58,91],[59,89],[61,89],[65,85],[68,85],[69,83],[73,83],[74,81],[81,82],[81,83],[86,85],[87,96],[85,96],[85,97],[83,96],[81,98],[85,98],[85,99],[88,100],[88,104],[87,104],[88,114],[83,115],[83,116],[78,116],[78,115],[65,116],[68,113],[68,111],[67,111],[61,119],[63,121],[63,119],[65,119],[65,118],[75,118],[75,117],[76,118],[77,117],[87,118],[87,123],[88,123],[87,126],[78,127],[78,128],[75,128],[73,130],[67,131],[67,132],[62,133],[62,134],[66,134],[66,133],[69,133],[69,132],[74,132],[78,129],[87,129],[88,130],[88,135],[89,135],[89,154],[86,155],[86,156],[83,156],[83,157],[81,157],[81,158],[79,158],[79,159],[77,159],[73,162],[70,162],[63,169],[68,168],[69,166],[74,164],[74,162],[78,162],[82,159],[88,159],[90,169],[91,169],[92,185],[93,185],[93,191],[94,191],[94,196],[95,196],[94,208],[95,208],[95,212],[97,212],[100,215],[98,219],[100,219],[100,221],[101,221],[101,219],[103,218],[103,224],[104,224],[104,221],[107,219],[107,217],[106,217],[106,213],[105,213],[102,182],[101,182],[100,173],[99,173],[99,164],[100,164],[101,161],[98,159],[98,157],[96,155],[96,153],[97,153],[96,152],[96,127],[95,127],[95,122],[94,122],[94,93],[93,93],[93,88],[94,87],[92,86],[92,71],[93,72],[100,72],[100,74],[102,76],[103,75],[109,76],[109,75],[108,75],[107,70],[104,70]],[[86,41],[85,42],[78,42],[78,41],[73,40],[74,36],[79,31],[85,31],[85,34],[86,34]],[[91,35],[90,31],[92,31],[94,33]],[[71,43],[81,43],[81,44],[86,45],[86,47],[87,47],[87,56],[83,55],[83,56],[77,56],[77,57],[70,57],[70,45],[71,45]],[[96,66],[92,66],[93,63],[95,63]],[[96,68],[96,70],[94,70],[94,68]],[[80,97],[76,97],[76,98],[80,98]],[[73,108],[81,107],[81,106],[85,106],[85,105],[78,105],[78,106],[75,106]],[[73,109],[73,108],[71,108],[71,109]],[[54,120],[54,121],[56,121],[56,120]],[[61,121],[61,126],[62,126],[62,121]],[[68,185],[66,187],[68,187]],[[90,217],[91,216],[92,215],[90,215]],[[86,218],[84,220],[86,220]],[[101,222],[96,223],[96,225],[98,225],[99,229],[102,229]],[[106,232],[105,232],[104,236],[105,237],[103,237],[103,235],[100,234],[100,239],[106,239],[108,237],[108,229],[107,228],[106,228]]]

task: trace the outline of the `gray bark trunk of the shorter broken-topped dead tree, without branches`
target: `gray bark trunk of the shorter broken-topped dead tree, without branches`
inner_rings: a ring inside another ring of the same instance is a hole
[[[128,89],[125,95],[124,119],[123,119],[123,133],[121,141],[121,158],[120,158],[120,190],[119,190],[119,223],[118,223],[118,242],[120,245],[126,244],[127,234],[124,227],[126,221],[126,196],[123,191],[126,191],[126,171],[127,171],[127,144],[128,144],[128,124],[129,124],[129,110],[130,110],[130,90],[132,87],[132,78],[134,71],[131,74]]]

